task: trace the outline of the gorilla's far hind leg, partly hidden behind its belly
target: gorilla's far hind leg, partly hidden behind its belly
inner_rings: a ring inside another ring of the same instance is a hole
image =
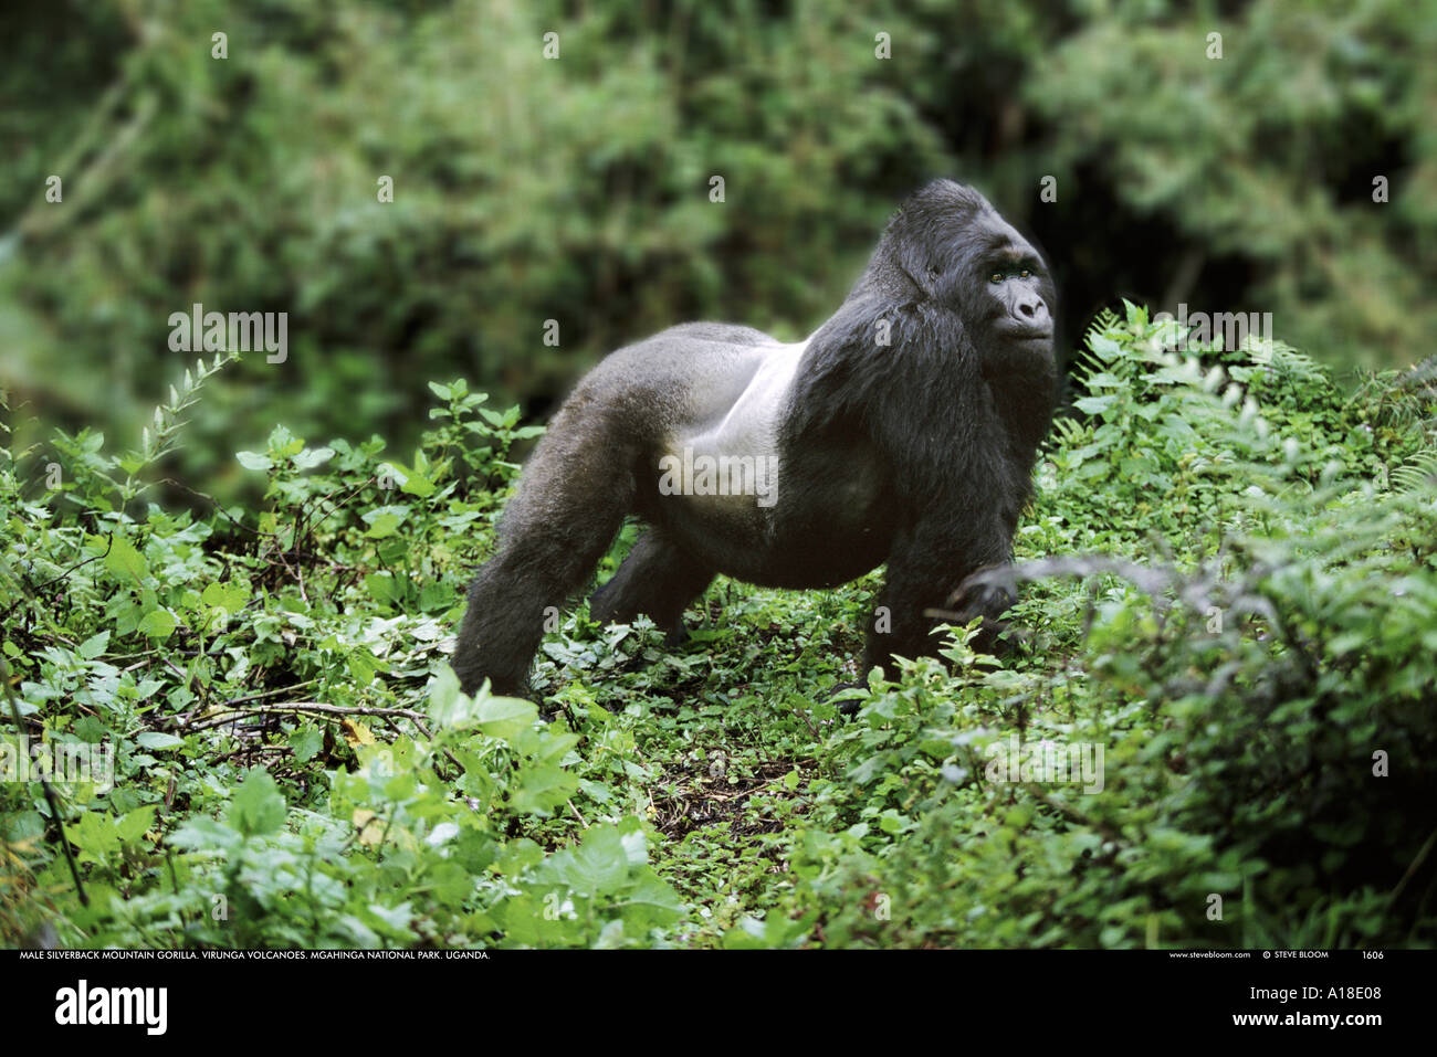
[[[713,579],[711,567],[650,528],[589,599],[589,615],[601,623],[628,623],[642,613],[664,630],[667,645],[677,646],[688,638],[684,609]]]

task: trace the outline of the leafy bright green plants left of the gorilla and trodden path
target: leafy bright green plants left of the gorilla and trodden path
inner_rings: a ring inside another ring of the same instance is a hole
[[[141,475],[220,366],[185,378],[138,452],[59,437],[72,475],[43,500],[24,498],[9,450],[0,465],[24,732],[116,750],[112,784],[60,788],[88,905],[43,850],[57,820],[40,783],[0,786],[7,938],[657,942],[683,905],[635,819],[573,847],[527,836],[575,794],[578,737],[529,702],[461,695],[435,651],[463,572],[450,547],[481,543],[509,448],[535,431],[461,381],[434,385],[444,406],[411,460],[280,427],[239,454],[266,474],[267,510],[167,514]]]

